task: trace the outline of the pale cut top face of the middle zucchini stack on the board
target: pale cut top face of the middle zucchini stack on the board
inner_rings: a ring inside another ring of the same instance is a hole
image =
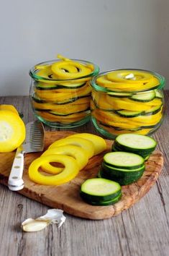
[[[104,162],[114,168],[136,169],[142,167],[145,160],[141,155],[117,151],[106,153]]]

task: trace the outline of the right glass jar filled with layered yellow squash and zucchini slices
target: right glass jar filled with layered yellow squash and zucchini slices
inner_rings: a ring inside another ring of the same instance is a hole
[[[115,69],[91,80],[91,119],[104,136],[151,135],[165,112],[165,78],[142,69]]]

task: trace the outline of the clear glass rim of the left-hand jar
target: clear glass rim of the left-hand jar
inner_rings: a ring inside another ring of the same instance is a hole
[[[93,64],[93,62],[91,62],[91,61],[86,61],[86,60],[81,60],[81,59],[70,59],[70,60],[77,61],[82,64],[92,64],[94,67],[93,72],[91,72],[90,74],[87,74],[86,76],[76,77],[76,78],[71,78],[71,79],[50,79],[50,78],[39,76],[35,73],[35,72],[37,72],[37,70],[39,70],[39,69],[35,68],[36,66],[45,65],[45,64],[53,64],[55,62],[60,61],[60,59],[52,59],[49,61],[40,62],[40,63],[36,64],[35,66],[33,66],[31,69],[29,69],[29,76],[32,77],[34,80],[44,80],[44,81],[53,81],[53,82],[55,82],[55,81],[69,82],[69,81],[73,81],[73,80],[81,80],[81,79],[87,78],[87,77],[93,77],[94,75],[99,74],[99,70],[100,70],[99,66],[96,64]]]

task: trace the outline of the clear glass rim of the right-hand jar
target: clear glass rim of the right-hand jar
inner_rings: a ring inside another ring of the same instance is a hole
[[[145,90],[111,90],[110,88],[104,88],[101,85],[98,85],[96,83],[97,78],[105,75],[105,74],[109,74],[110,72],[114,72],[114,71],[123,71],[123,70],[134,70],[134,71],[140,71],[140,72],[147,72],[150,74],[153,74],[155,77],[157,77],[157,79],[159,80],[159,85],[156,85],[155,88],[150,88],[150,89],[145,89]],[[155,89],[163,89],[164,85],[165,85],[165,77],[163,77],[163,75],[158,74],[157,72],[152,72],[146,69],[132,69],[132,68],[126,68],[126,69],[109,69],[108,71],[105,72],[101,72],[95,76],[92,77],[91,81],[90,81],[91,87],[94,90],[100,91],[102,93],[107,93],[107,92],[112,92],[112,93],[141,93],[141,92],[147,92],[150,90],[155,90]]]

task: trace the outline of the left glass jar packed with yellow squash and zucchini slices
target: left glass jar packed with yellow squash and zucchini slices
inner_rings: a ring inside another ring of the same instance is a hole
[[[60,60],[45,61],[29,70],[33,112],[37,119],[50,127],[78,127],[86,124],[91,117],[89,81],[99,74],[99,67],[89,61],[68,61],[63,65],[60,65]],[[72,67],[70,62],[75,63],[76,67]],[[91,69],[91,72],[85,75],[81,72],[83,67]],[[63,75],[62,78],[53,72],[56,68],[61,77]],[[67,74],[70,74],[69,79],[66,78]]]

